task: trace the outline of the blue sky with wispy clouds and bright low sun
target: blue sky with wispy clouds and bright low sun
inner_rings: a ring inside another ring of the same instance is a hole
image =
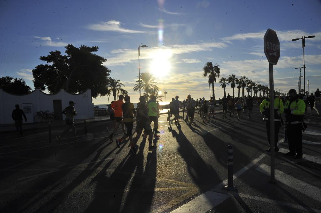
[[[320,11],[317,0],[0,0],[0,76],[24,78],[33,88],[30,71],[44,63],[40,56],[54,50],[64,53],[66,44],[97,45],[97,54],[108,60],[104,65],[112,70],[110,76],[120,79],[132,102],[137,102],[132,88],[138,76],[137,48],[143,44],[148,47],[141,48],[141,72],[155,74],[168,99],[176,94],[181,99],[187,94],[208,97],[207,79],[202,77],[208,61],[220,65],[223,77],[245,75],[268,85],[263,37],[271,28],[280,40],[274,86],[281,90],[297,88],[299,71],[294,68],[303,67],[302,43],[291,39],[316,36],[306,39],[305,47],[306,80],[315,91],[321,87]],[[223,95],[219,85],[215,84],[217,99]],[[232,92],[229,86],[227,92]],[[108,98],[93,102],[108,103]]]

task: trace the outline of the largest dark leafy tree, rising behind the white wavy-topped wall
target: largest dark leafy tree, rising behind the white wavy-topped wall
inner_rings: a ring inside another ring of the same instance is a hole
[[[77,48],[68,44],[65,48],[66,55],[56,50],[40,57],[47,64],[40,64],[32,70],[35,88],[45,90],[47,87],[50,93],[65,89],[72,94],[91,89],[92,97],[107,95],[111,70],[102,65],[107,59],[93,53],[99,47],[81,45]]]

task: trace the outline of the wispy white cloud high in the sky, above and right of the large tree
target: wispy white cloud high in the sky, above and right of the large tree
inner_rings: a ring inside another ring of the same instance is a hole
[[[116,20],[109,20],[107,22],[100,22],[99,24],[91,24],[87,26],[88,29],[98,30],[98,31],[114,31],[122,33],[144,33],[140,30],[131,30],[121,27],[121,22]]]

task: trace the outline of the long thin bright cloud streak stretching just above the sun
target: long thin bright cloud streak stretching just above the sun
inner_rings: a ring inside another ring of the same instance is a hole
[[[222,42],[203,42],[199,44],[192,45],[171,45],[164,46],[162,49],[170,51],[173,55],[179,55],[183,53],[193,53],[200,51],[212,51],[213,48],[222,48],[226,45]],[[144,51],[141,51],[141,59],[151,59],[153,58],[153,53],[159,48],[144,48]],[[116,66],[116,65],[125,65],[126,63],[137,61],[137,50],[136,49],[117,49],[110,52],[114,54],[114,57],[108,58],[108,61],[104,63],[106,66]]]

